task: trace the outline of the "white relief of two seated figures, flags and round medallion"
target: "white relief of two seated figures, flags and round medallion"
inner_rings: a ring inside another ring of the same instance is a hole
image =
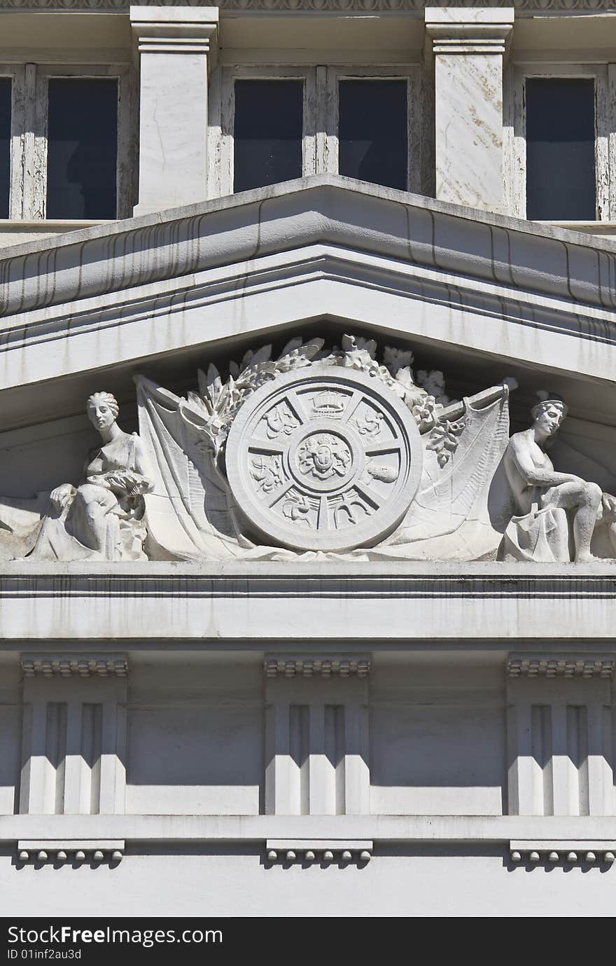
[[[610,478],[585,478],[595,464],[571,448],[571,468],[548,455],[561,399],[545,394],[510,437],[515,380],[458,401],[412,363],[345,335],[260,348],[224,377],[210,364],[185,396],[139,376],[139,434],[97,392],[83,478],[38,501],[0,497],[0,558],[616,557]]]

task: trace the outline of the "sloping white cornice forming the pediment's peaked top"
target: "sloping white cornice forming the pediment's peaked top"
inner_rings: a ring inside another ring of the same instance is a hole
[[[565,378],[616,372],[613,241],[336,176],[15,246],[0,305],[7,427],[32,384],[53,410],[95,368],[322,318]]]

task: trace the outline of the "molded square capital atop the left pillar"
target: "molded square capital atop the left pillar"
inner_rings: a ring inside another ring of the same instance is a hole
[[[217,7],[130,7],[139,53],[215,54]]]

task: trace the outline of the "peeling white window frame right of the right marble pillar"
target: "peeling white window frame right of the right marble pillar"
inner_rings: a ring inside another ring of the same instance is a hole
[[[595,221],[609,221],[616,214],[616,178],[610,184],[610,159],[616,160],[613,146],[614,123],[608,113],[608,66],[606,64],[518,64],[513,70],[513,97],[510,117],[505,127],[512,129],[510,159],[505,166],[505,188],[508,211],[526,218],[526,80],[574,79],[595,82]],[[612,170],[615,170],[612,168]],[[567,218],[555,223],[575,224]]]

